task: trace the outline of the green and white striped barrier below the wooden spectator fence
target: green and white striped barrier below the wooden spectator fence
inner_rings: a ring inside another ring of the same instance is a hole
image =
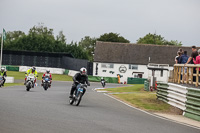
[[[157,98],[183,110],[183,115],[200,121],[200,89],[158,82]]]

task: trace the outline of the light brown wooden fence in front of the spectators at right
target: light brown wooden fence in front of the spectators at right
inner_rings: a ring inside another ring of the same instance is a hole
[[[175,64],[173,82],[178,84],[194,84],[195,86],[199,86],[199,68],[200,65],[196,64]]]

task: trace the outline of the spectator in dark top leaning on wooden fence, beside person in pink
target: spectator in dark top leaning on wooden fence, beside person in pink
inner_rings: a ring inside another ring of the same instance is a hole
[[[188,63],[194,64],[193,59],[196,61],[197,56],[198,56],[197,48],[196,48],[196,46],[192,46],[192,54],[188,58],[185,65],[187,65]],[[193,68],[193,73],[196,74],[196,68],[195,67]],[[196,76],[193,76],[193,82],[196,82]]]

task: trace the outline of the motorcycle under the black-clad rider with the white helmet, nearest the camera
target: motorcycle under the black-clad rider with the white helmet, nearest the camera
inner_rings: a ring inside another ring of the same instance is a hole
[[[78,106],[81,102],[83,92],[86,90],[87,85],[79,83],[77,85],[76,90],[74,91],[73,97],[69,99],[69,103],[72,105],[73,103]]]

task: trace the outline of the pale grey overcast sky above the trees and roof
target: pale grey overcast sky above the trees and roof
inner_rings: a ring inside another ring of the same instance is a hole
[[[67,43],[119,33],[131,43],[148,33],[200,45],[200,0],[0,0],[0,30],[28,33],[38,23]]]

